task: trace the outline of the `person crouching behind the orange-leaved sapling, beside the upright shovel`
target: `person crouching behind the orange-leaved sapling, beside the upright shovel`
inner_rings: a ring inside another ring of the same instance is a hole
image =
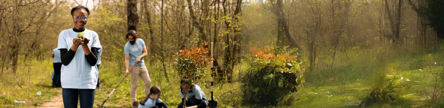
[[[189,86],[183,78],[180,80],[180,84],[182,84],[182,86],[179,89],[179,95],[182,102],[177,105],[177,108],[183,108],[183,92],[186,92],[186,108],[206,108],[206,106],[208,106],[208,100],[205,97],[205,93],[203,93],[202,88],[197,84],[191,84],[191,86]]]

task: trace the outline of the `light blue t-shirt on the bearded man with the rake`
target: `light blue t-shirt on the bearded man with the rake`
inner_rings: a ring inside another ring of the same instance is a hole
[[[142,55],[143,48],[145,47],[145,42],[143,42],[142,39],[137,38],[135,44],[131,44],[129,41],[127,44],[125,44],[125,54],[130,55],[130,65],[134,65],[136,62],[137,57]],[[136,66],[144,66],[145,63],[143,63],[143,58],[140,60],[139,63],[136,64]]]

